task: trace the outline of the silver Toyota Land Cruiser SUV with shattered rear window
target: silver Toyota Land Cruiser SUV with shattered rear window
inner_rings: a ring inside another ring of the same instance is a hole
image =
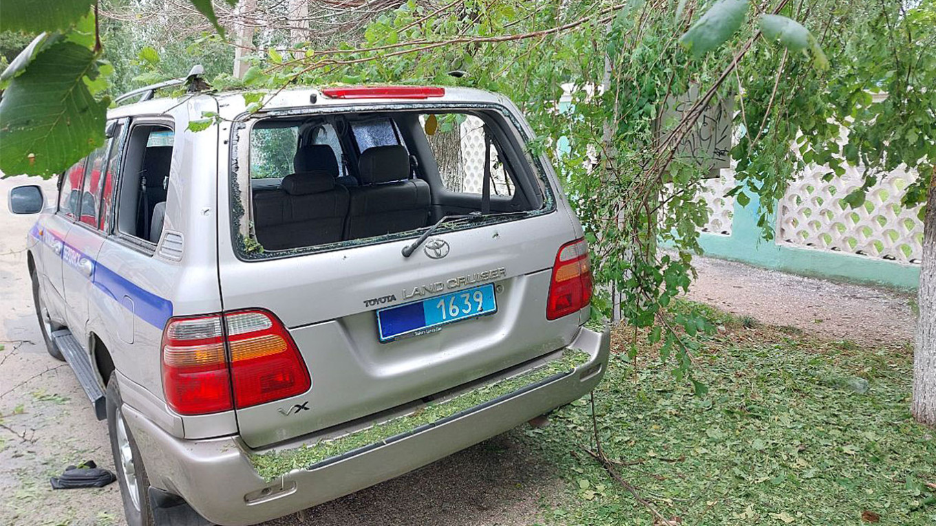
[[[598,383],[588,246],[509,100],[337,87],[257,111],[167,85],[110,110],[49,202],[10,194],[39,213],[39,323],[108,420],[130,524],[280,517]]]

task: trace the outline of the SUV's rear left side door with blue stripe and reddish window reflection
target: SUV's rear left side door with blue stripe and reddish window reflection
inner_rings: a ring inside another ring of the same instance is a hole
[[[87,342],[88,303],[95,286],[97,253],[104,243],[101,231],[106,207],[101,205],[113,139],[88,155],[80,186],[80,206],[68,230],[62,252],[62,283],[66,323],[79,342]]]

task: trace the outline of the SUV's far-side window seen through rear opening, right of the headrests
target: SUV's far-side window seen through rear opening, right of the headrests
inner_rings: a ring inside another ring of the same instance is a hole
[[[419,122],[446,190],[481,194],[484,185],[484,121],[464,113],[424,114]],[[507,174],[494,140],[490,153],[490,195],[510,197],[516,185]]]

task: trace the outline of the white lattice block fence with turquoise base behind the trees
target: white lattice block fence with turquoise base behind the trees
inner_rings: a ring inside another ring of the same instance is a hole
[[[724,193],[735,186],[734,173],[705,183],[701,198],[711,216],[700,244],[707,256],[733,259],[759,267],[819,277],[832,277],[901,288],[919,283],[923,223],[918,209],[900,205],[903,190],[915,174],[895,170],[867,193],[866,203],[852,209],[842,198],[861,184],[858,168],[830,182],[823,167],[809,168],[775,203],[773,241],[757,226],[760,201],[747,206]],[[750,194],[749,194],[750,195]]]

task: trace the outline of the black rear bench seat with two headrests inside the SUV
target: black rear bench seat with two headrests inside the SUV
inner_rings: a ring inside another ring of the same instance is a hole
[[[429,184],[408,179],[409,154],[402,146],[365,150],[358,163],[359,186],[338,183],[338,163],[328,145],[300,148],[293,165],[297,173],[287,175],[278,189],[254,193],[256,240],[267,250],[368,238],[429,223]]]

